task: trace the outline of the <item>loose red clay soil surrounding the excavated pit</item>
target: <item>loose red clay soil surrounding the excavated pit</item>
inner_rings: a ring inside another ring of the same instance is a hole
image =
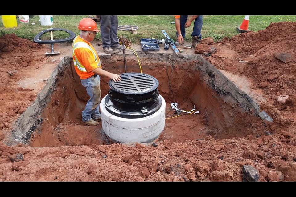
[[[51,74],[46,70],[59,59],[45,56],[50,48],[14,34],[2,36],[0,181],[245,181],[243,168],[248,165],[255,169],[254,181],[296,181],[295,32],[295,22],[271,23],[265,30],[200,44],[195,50],[221,72],[250,82],[253,94],[261,98],[257,103],[273,119],[266,123],[266,135],[164,140],[155,147],[141,143],[7,146],[11,125],[35,100]],[[204,56],[211,47],[216,53]],[[174,124],[194,132],[193,127],[180,126],[189,121]]]

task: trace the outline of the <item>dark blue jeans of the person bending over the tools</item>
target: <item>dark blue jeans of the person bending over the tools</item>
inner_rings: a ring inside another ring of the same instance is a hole
[[[185,38],[185,23],[187,21],[188,15],[180,15],[180,29],[181,34],[183,38]],[[203,26],[203,15],[199,15],[197,18],[195,18],[193,31],[191,36],[199,36],[199,39],[201,39],[201,27]],[[176,32],[176,36],[178,38],[178,32]]]

